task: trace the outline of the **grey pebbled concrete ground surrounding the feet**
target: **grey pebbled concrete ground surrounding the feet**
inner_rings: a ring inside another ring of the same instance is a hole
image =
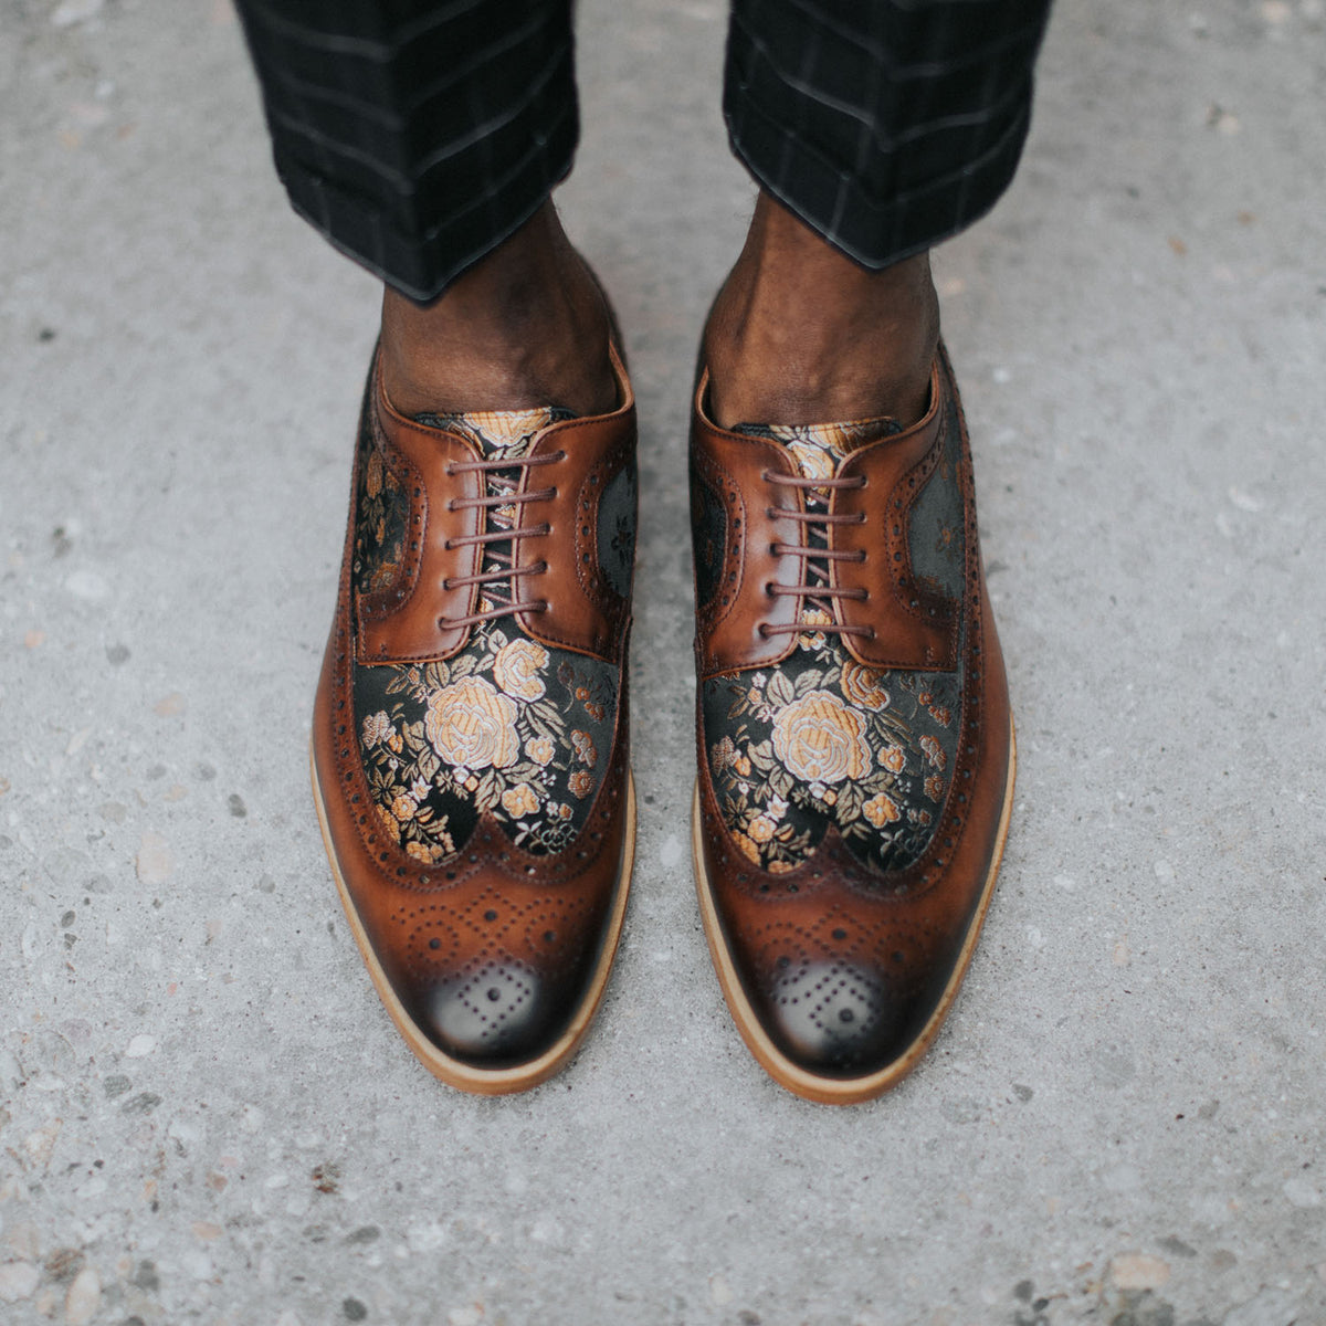
[[[585,1049],[484,1101],[395,1036],[308,792],[375,285],[221,0],[0,0],[0,1321],[1326,1322],[1322,3],[1062,0],[937,255],[1018,796],[947,1028],[838,1111],[743,1049],[690,879],[723,21],[579,12],[640,839]]]

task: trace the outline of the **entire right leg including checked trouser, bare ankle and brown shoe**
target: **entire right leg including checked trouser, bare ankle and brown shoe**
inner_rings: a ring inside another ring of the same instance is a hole
[[[1012,174],[1044,19],[733,15],[728,122],[761,195],[692,427],[695,869],[743,1037],[815,1101],[918,1062],[1008,830],[1008,691],[928,249]]]

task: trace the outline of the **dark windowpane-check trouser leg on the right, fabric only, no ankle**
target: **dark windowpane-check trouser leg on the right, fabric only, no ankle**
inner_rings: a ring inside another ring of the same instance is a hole
[[[724,117],[756,180],[882,268],[989,211],[1050,0],[733,0]]]

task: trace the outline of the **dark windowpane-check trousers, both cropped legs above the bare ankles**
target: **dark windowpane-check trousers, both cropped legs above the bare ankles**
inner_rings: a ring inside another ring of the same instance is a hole
[[[1050,0],[733,0],[723,109],[756,180],[865,267],[1017,168]],[[296,210],[427,300],[537,211],[579,122],[570,0],[239,0]]]

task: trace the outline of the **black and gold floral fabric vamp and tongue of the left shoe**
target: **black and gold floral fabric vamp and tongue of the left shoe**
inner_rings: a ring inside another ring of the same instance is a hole
[[[538,430],[572,418],[532,410],[422,416],[460,432],[483,455],[522,456]],[[492,471],[488,492],[513,492],[518,469]],[[517,504],[488,509],[492,529],[513,529]],[[487,545],[484,570],[511,569],[511,544]],[[509,577],[481,594],[487,611]],[[617,725],[610,663],[529,639],[513,618],[473,627],[446,662],[355,670],[355,721],[365,774],[382,823],[419,861],[460,851],[488,812],[517,846],[558,851],[589,818]]]

